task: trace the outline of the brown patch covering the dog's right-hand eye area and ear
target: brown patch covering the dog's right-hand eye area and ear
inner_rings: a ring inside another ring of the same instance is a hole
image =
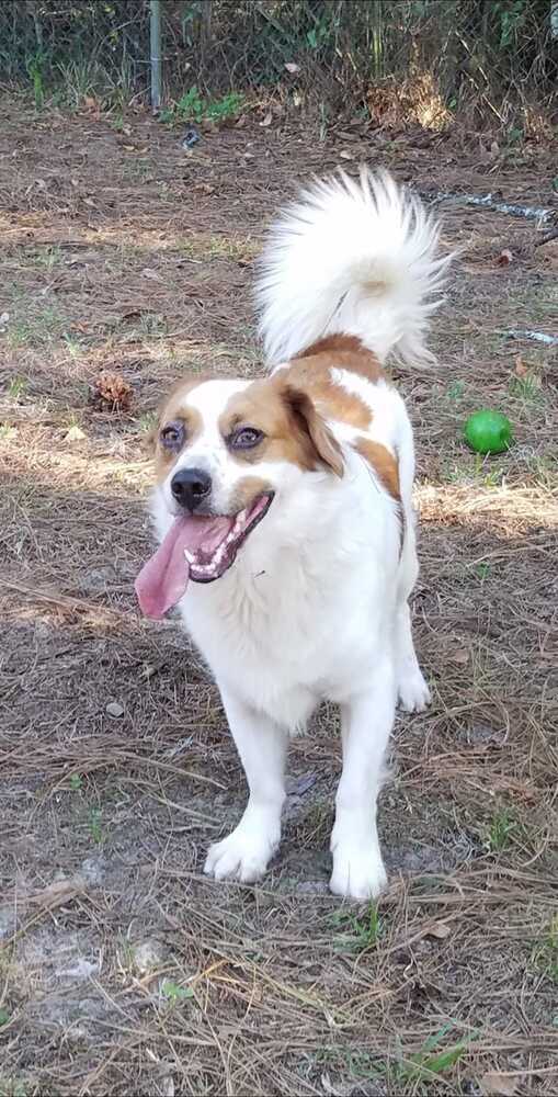
[[[343,474],[341,450],[307,393],[295,388],[281,372],[265,381],[254,381],[229,399],[219,419],[225,439],[240,427],[255,427],[264,438],[249,450],[231,450],[242,464],[288,461],[312,471],[324,465]]]

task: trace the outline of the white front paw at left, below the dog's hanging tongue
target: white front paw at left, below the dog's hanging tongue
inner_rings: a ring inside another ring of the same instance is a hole
[[[209,848],[204,872],[216,880],[253,883],[263,877],[278,842],[278,829],[259,830],[253,823],[249,827],[239,823],[227,838]]]

